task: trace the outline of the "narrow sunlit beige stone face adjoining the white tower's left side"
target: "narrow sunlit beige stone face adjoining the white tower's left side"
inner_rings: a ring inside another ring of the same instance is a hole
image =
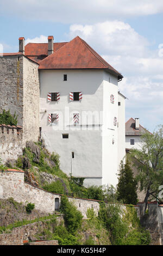
[[[40,126],[38,64],[23,57],[23,146],[38,141]]]

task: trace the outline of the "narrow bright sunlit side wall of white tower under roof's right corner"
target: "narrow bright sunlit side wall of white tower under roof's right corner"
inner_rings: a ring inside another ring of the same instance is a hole
[[[109,79],[110,78],[110,79]],[[114,125],[114,117],[118,120],[118,87],[117,77],[104,72],[103,86],[103,179],[102,184],[117,184],[117,125]],[[110,101],[110,95],[114,95],[114,103]],[[114,139],[114,144],[112,144]]]

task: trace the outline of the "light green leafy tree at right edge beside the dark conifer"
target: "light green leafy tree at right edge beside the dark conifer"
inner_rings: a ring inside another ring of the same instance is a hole
[[[142,149],[130,150],[130,157],[136,159],[137,181],[140,181],[141,190],[146,191],[146,207],[149,196],[157,198],[159,186],[163,182],[163,125],[152,133],[141,136]],[[146,210],[146,209],[145,209]]]

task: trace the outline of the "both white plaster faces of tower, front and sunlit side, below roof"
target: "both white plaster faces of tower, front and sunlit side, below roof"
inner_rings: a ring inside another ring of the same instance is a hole
[[[67,74],[67,81],[63,81]],[[41,70],[40,126],[47,149],[60,155],[61,169],[86,178],[84,185],[117,184],[117,77],[102,70]],[[60,100],[48,102],[49,92],[59,92]],[[82,92],[82,101],[70,101],[70,92]],[[114,94],[115,102],[110,102]],[[87,121],[84,112],[96,116]],[[49,124],[48,114],[59,113],[59,124]],[[73,113],[80,114],[80,125],[73,127]],[[86,124],[88,125],[86,127]],[[95,127],[92,128],[92,124]],[[68,139],[62,139],[68,133]],[[115,143],[112,144],[114,138]],[[74,152],[74,159],[71,153]]]

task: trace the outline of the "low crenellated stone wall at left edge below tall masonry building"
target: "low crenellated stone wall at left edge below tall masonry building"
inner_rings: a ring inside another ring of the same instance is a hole
[[[0,158],[2,163],[22,155],[23,130],[21,126],[0,125]]]

